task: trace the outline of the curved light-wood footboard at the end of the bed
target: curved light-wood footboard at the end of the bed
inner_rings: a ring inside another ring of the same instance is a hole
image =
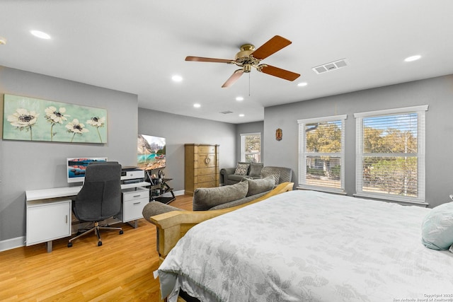
[[[293,185],[294,182],[282,182],[280,185],[277,185],[274,190],[264,194],[262,197],[247,202],[246,204],[227,209],[212,211],[170,211],[168,213],[151,216],[151,223],[154,223],[157,226],[157,247],[160,262],[164,261],[166,255],[168,255],[168,252],[176,245],[178,240],[197,223],[246,207],[249,204],[260,202],[269,197],[273,197],[274,195],[291,191]]]

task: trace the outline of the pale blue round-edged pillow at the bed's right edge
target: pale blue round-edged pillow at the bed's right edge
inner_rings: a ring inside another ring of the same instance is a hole
[[[453,250],[453,202],[440,204],[425,216],[422,243],[432,250]]]

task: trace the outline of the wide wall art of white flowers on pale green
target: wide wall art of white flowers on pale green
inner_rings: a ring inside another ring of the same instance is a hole
[[[3,139],[107,142],[107,110],[81,105],[4,95]]]

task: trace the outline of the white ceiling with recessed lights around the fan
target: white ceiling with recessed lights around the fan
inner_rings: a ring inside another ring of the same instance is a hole
[[[0,65],[134,93],[140,108],[231,123],[263,120],[268,106],[453,74],[452,33],[452,0],[0,1]],[[301,74],[294,82],[253,70],[221,88],[237,66],[184,60],[233,59],[241,45],[274,35],[292,45],[262,63]],[[403,62],[414,54],[422,58]],[[348,66],[311,70],[338,59]]]

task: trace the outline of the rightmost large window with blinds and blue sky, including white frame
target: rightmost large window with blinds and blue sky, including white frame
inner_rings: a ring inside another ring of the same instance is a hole
[[[357,195],[425,202],[428,105],[356,113]]]

